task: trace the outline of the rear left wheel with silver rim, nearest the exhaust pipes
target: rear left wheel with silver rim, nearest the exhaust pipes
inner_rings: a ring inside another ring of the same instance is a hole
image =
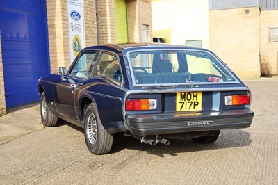
[[[85,142],[92,154],[108,154],[113,145],[113,136],[101,124],[97,106],[90,104],[85,111]]]

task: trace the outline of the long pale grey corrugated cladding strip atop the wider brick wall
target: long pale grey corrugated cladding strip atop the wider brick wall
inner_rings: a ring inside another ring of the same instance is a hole
[[[259,0],[209,0],[209,10],[259,6]]]

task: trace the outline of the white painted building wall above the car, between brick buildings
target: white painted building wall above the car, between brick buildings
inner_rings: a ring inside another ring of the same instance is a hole
[[[177,45],[202,40],[208,49],[208,0],[152,0],[152,26],[154,37]]]

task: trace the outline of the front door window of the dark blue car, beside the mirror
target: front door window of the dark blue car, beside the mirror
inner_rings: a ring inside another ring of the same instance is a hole
[[[92,59],[94,59],[95,54],[95,52],[82,54],[70,74],[72,74],[72,76],[85,78],[92,65]]]

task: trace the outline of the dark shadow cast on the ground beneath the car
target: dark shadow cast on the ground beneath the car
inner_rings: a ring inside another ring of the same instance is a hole
[[[76,131],[80,131],[83,134],[83,128],[77,127],[65,120],[59,120],[57,127],[67,125]],[[123,137],[122,134],[116,134],[114,137],[113,147],[111,154],[117,154],[122,150],[137,150],[145,151],[148,154],[154,154],[156,156],[164,157],[165,155],[177,156],[179,153],[185,152],[202,152],[207,150],[222,150],[235,147],[246,147],[251,145],[250,133],[243,129],[224,130],[220,131],[218,140],[211,144],[199,144],[194,143],[191,139],[183,140],[170,140],[170,145],[164,145],[158,143],[155,146],[140,143],[140,140],[133,138],[132,136]]]

